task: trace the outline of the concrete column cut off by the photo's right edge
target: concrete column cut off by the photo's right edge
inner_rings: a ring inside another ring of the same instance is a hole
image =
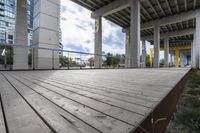
[[[196,17],[195,45],[197,57],[196,65],[197,68],[200,68],[200,15]]]

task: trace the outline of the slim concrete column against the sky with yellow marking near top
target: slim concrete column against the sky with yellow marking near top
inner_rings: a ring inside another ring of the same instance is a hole
[[[102,67],[102,18],[95,20],[95,46],[94,46],[95,60],[94,67]]]

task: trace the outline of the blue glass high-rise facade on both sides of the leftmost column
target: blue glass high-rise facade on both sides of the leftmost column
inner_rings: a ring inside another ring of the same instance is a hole
[[[0,0],[0,44],[13,44],[16,0]],[[27,0],[28,43],[32,44],[33,0]]]

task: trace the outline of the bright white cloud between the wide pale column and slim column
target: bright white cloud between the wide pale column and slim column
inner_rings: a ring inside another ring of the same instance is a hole
[[[93,23],[88,10],[81,10],[75,3],[69,0],[61,0],[62,7],[66,10],[61,12],[62,42],[67,50],[69,44],[87,47],[93,51],[94,37]],[[81,10],[81,11],[80,11]],[[64,18],[64,20],[63,20]]]

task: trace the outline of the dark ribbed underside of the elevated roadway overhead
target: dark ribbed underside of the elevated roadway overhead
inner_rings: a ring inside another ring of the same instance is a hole
[[[101,15],[107,20],[121,26],[122,28],[130,27],[130,0],[72,0],[75,3],[92,11],[92,16]],[[146,25],[149,22],[160,20],[163,18],[177,17],[179,14],[193,13],[200,8],[200,0],[140,0],[141,1],[141,25]],[[116,9],[111,9],[116,8]],[[112,10],[112,11],[111,11]],[[161,34],[181,31],[185,29],[195,28],[195,19],[190,18],[180,22],[166,23],[161,25]],[[174,18],[173,18],[174,19]],[[154,33],[153,27],[141,28],[141,36],[152,36]],[[192,40],[192,35],[180,35],[181,37],[170,37],[171,42],[178,40]],[[152,39],[150,39],[152,40]]]

